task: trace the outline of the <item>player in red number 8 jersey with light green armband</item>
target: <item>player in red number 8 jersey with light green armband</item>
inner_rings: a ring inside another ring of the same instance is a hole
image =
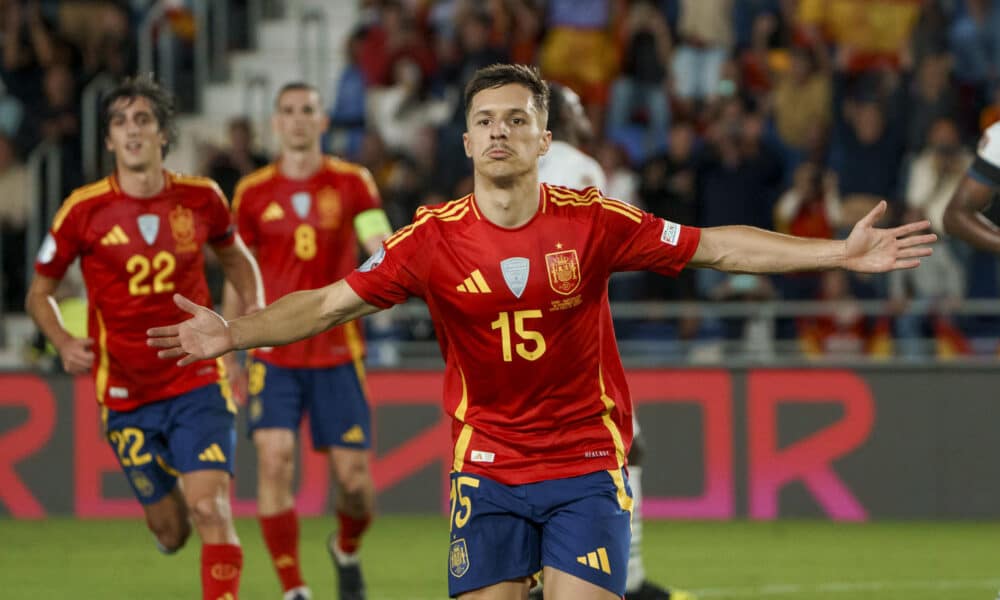
[[[260,261],[268,302],[346,276],[358,265],[358,240],[370,254],[391,233],[368,171],[323,155],[320,137],[327,121],[314,87],[282,87],[272,118],[280,158],[236,187],[236,225]],[[223,311],[227,317],[242,312],[231,291],[227,289]],[[328,547],[340,598],[364,598],[357,552],[371,521],[374,484],[368,466],[371,419],[363,355],[361,328],[353,321],[301,342],[258,350],[250,362],[257,510],[288,600],[311,597],[299,568],[299,524],[292,495],[295,436],[307,412],[313,447],[327,454],[338,484],[339,529]]]

